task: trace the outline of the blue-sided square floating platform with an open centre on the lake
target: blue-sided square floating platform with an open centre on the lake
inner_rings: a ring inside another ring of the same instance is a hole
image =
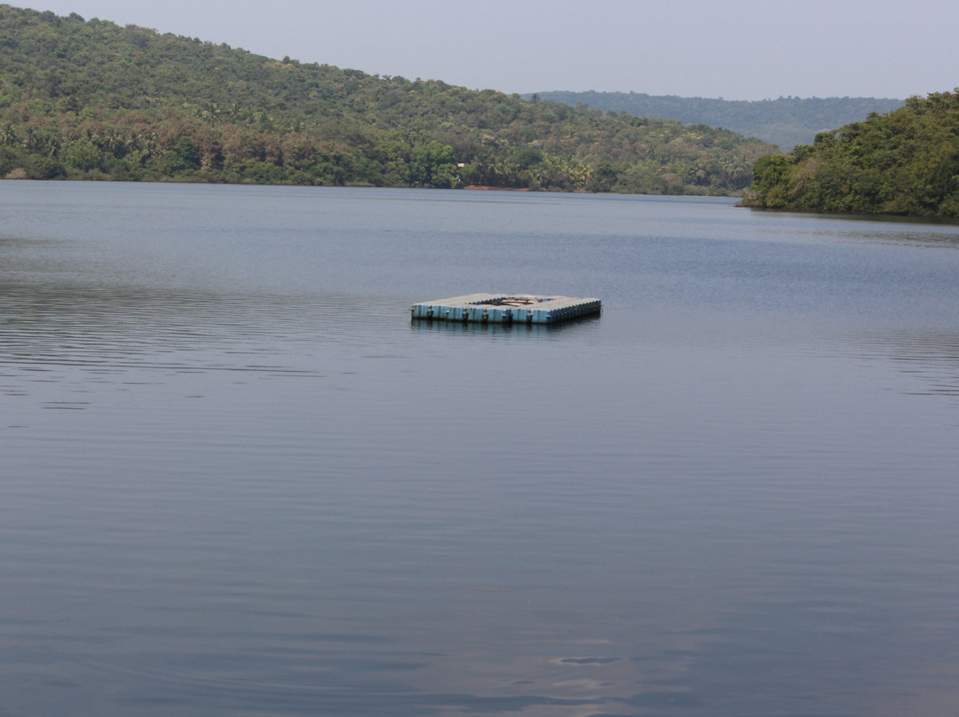
[[[413,319],[485,324],[556,324],[602,311],[599,299],[471,293],[413,304]]]

